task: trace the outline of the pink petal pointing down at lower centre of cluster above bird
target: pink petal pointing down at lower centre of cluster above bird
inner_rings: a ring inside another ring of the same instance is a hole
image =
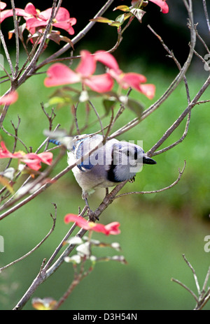
[[[111,91],[114,84],[113,79],[108,73],[92,75],[90,78],[85,79],[84,83],[90,87],[90,89],[99,93]]]

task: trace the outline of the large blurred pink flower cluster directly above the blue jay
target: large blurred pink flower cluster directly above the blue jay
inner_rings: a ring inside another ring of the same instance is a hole
[[[111,91],[114,80],[116,80],[123,89],[132,87],[150,99],[155,95],[154,84],[142,84],[146,82],[146,77],[139,73],[123,73],[112,54],[105,51],[97,51],[91,54],[89,51],[83,50],[80,55],[80,63],[75,71],[62,63],[52,64],[48,68],[48,78],[45,78],[45,86],[53,87],[81,82],[83,87],[88,86],[94,91],[104,93]],[[97,67],[97,61],[108,67],[109,71],[101,75],[93,75]]]

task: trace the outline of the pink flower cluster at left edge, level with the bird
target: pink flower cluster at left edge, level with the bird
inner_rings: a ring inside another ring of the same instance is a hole
[[[43,152],[40,154],[36,153],[28,153],[24,152],[15,152],[11,153],[6,148],[4,142],[0,143],[0,159],[18,159],[20,162],[25,163],[32,170],[39,170],[41,168],[41,162],[50,165],[52,163],[52,153],[51,152]]]

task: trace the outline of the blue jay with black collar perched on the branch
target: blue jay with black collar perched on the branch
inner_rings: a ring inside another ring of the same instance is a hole
[[[83,190],[85,202],[95,189],[116,186],[125,180],[132,181],[143,164],[156,164],[138,145],[116,139],[106,140],[103,144],[103,139],[103,135],[77,135],[66,145],[68,164],[80,159],[72,171]],[[62,140],[49,141],[56,145],[64,143]]]

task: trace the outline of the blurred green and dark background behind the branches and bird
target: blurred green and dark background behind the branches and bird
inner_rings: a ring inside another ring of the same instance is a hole
[[[35,6],[36,2],[38,1],[34,1]],[[179,3],[181,5],[181,1]],[[113,7],[118,4],[122,4],[121,1],[120,3],[116,1]],[[17,6],[19,6],[18,1]],[[65,1],[63,1],[63,6],[65,6]],[[38,8],[44,10],[47,7],[39,6]],[[174,6],[174,13],[176,13],[175,9]],[[70,8],[69,10],[71,13]],[[78,17],[76,10],[78,8],[74,8],[72,17]],[[151,32],[146,29],[146,23],[150,23],[161,35],[163,31],[167,40],[172,42],[168,44],[166,40],[167,45],[170,45],[169,47],[177,52],[178,57],[180,55],[181,61],[187,56],[189,41],[187,28],[185,28],[185,31],[182,29],[178,34],[180,30],[176,29],[178,24],[175,19],[176,15],[175,18],[172,15],[172,10],[168,15],[160,14],[159,8],[155,8],[155,6],[151,10],[153,10],[151,21],[149,21],[149,15],[146,15],[148,21],[144,24],[140,25],[139,22],[134,22],[131,34],[128,30],[124,36],[122,47],[115,54],[123,71],[142,73],[146,75],[148,83],[156,85],[157,92],[153,101],[149,101],[143,95],[132,91],[132,98],[144,103],[145,108],[148,108],[162,95],[177,73],[170,59],[165,57],[166,53],[162,50],[158,40],[155,36],[151,36]],[[183,12],[181,11],[181,13]],[[89,12],[88,14],[90,17],[93,16]],[[111,10],[105,16],[111,17],[110,15],[113,15]],[[153,17],[156,17],[156,20]],[[183,17],[183,20],[185,21],[185,17]],[[203,20],[204,17],[200,20],[201,26]],[[161,26],[167,26],[167,28],[162,27],[161,29]],[[115,34],[116,30],[97,24],[97,27],[91,31],[92,35],[94,31],[97,32],[97,36],[94,36],[95,38],[92,36],[90,39],[88,39],[88,36],[76,45],[75,54],[78,54],[81,48],[87,48],[92,52],[99,48],[109,48],[110,43],[107,39],[109,31]],[[172,31],[174,31],[174,34],[170,34]],[[133,38],[130,35],[133,35]],[[173,39],[172,35],[174,36]],[[150,37],[149,40],[148,37]],[[144,43],[144,40],[147,40],[147,42]],[[183,40],[186,40],[186,43]],[[181,47],[183,50],[176,47],[179,41],[186,44],[186,47]],[[137,43],[139,47],[136,48],[134,45]],[[151,45],[151,47],[147,45]],[[197,50],[199,49],[200,47]],[[130,56],[127,61],[128,55]],[[24,61],[25,54],[22,53],[21,59]],[[207,79],[207,72],[204,71],[199,59],[193,61],[187,77],[190,96],[193,98]],[[44,78],[45,74],[36,75],[22,84],[18,89],[19,99],[14,105],[10,106],[4,123],[6,130],[13,132],[10,120],[17,124],[19,116],[21,123],[18,135],[28,147],[33,147],[33,151],[45,138],[43,129],[48,128],[48,121],[43,115],[40,103],[47,103],[50,94],[55,90],[43,86]],[[2,84],[1,93],[5,89],[7,89],[6,84]],[[208,94],[205,93],[201,99],[209,99]],[[104,115],[101,101],[97,99],[94,103],[100,115]],[[144,150],[147,151],[179,117],[186,105],[186,89],[182,83],[153,115],[118,139],[143,140]],[[125,256],[127,265],[114,261],[97,263],[94,271],[73,290],[61,309],[193,309],[195,306],[193,297],[181,286],[172,282],[171,278],[179,279],[196,291],[193,274],[184,262],[182,254],[186,254],[186,258],[195,268],[201,286],[210,265],[210,253],[204,251],[204,237],[210,235],[209,108],[209,103],[197,105],[192,112],[186,139],[169,152],[155,156],[157,165],[144,167],[143,171],[137,174],[134,184],[127,184],[122,192],[150,191],[168,186],[178,177],[178,170],[183,168],[183,163],[186,160],[186,170],[179,184],[162,193],[124,196],[115,200],[102,214],[100,219],[102,223],[119,221],[121,233],[115,237],[104,237],[94,233],[93,238],[102,240],[102,242],[120,242],[122,247],[120,254]],[[85,123],[84,109],[82,105],[78,109],[80,127]],[[50,112],[50,108],[47,111]],[[133,112],[125,111],[118,120],[115,130],[134,117]],[[90,120],[96,120],[92,111],[90,112]],[[56,110],[53,126],[59,123],[62,128],[69,130],[71,121],[71,109],[66,106]],[[109,121],[109,117],[103,119],[103,124],[106,125],[107,121]],[[184,128],[185,124],[183,123],[165,145],[179,139]],[[98,129],[99,124],[95,123],[88,129],[88,132]],[[9,138],[2,131],[1,136],[8,148],[11,149],[13,138]],[[24,149],[20,144],[18,148]],[[57,153],[55,152],[55,154]],[[52,175],[55,175],[65,166],[66,157],[56,166]],[[2,164],[1,168],[3,168]],[[80,195],[80,187],[72,173],[69,172],[36,199],[1,221],[0,235],[3,236],[5,244],[4,253],[0,253],[0,265],[3,266],[27,253],[42,240],[52,226],[50,219],[50,212],[54,213],[52,203],[57,204],[57,224],[55,231],[48,240],[31,256],[1,273],[0,309],[11,309],[25,293],[36,277],[43,258],[50,257],[52,251],[68,230],[69,226],[64,224],[64,215],[67,213],[77,214],[78,206],[83,207],[83,200]],[[96,191],[90,197],[90,207],[96,208],[103,197],[104,190]],[[93,253],[96,253],[97,256],[113,255],[113,251],[108,248],[95,248]],[[72,265],[65,263],[36,290],[33,297],[54,297],[58,300],[71,283],[72,278]],[[30,302],[27,303],[25,309],[32,309]],[[210,304],[207,304],[204,309],[210,309]]]

